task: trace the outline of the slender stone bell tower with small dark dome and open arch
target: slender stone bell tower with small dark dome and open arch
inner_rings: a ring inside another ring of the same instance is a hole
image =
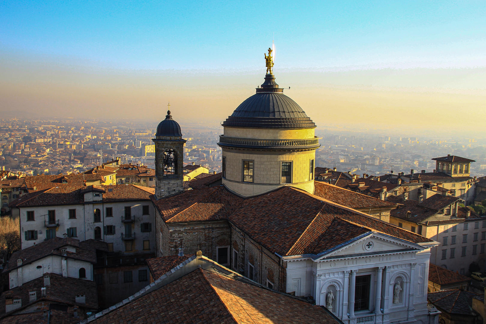
[[[170,107],[170,104],[168,104]],[[172,119],[171,111],[157,126],[155,143],[155,196],[157,199],[184,191],[184,143],[179,124]]]

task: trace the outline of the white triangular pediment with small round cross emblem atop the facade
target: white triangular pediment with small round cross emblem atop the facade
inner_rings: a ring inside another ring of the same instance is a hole
[[[408,251],[420,251],[423,248],[406,240],[382,233],[368,232],[366,235],[350,240],[335,249],[324,251],[317,259],[333,259],[360,256],[387,255]]]

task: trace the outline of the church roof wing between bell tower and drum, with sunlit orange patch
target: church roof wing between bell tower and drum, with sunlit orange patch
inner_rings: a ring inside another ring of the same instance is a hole
[[[218,186],[187,190],[178,195],[152,201],[164,222],[226,220],[243,198]]]

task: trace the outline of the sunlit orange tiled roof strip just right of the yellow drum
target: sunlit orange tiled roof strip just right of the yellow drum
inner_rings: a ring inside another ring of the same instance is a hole
[[[392,202],[380,200],[325,182],[314,182],[314,195],[350,208],[395,207]]]

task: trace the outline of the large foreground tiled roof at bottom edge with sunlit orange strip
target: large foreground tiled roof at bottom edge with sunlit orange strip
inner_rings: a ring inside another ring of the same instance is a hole
[[[202,268],[88,323],[160,323],[168,318],[171,323],[339,323],[323,307]]]

